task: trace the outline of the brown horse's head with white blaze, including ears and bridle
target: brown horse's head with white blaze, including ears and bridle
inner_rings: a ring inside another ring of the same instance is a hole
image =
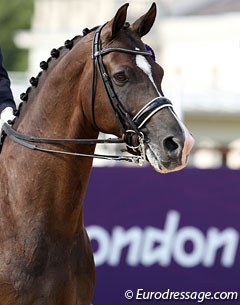
[[[127,8],[128,4],[123,5],[92,34],[92,56],[99,73],[88,112],[95,128],[124,135],[130,152],[139,153],[142,139],[144,155],[158,172],[180,170],[187,163],[193,138],[164,97],[163,68],[141,40],[155,21],[156,5],[132,24],[126,23]]]

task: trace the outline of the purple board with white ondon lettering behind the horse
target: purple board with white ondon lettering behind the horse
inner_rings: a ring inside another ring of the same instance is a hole
[[[240,292],[239,171],[94,168],[85,224],[97,265],[93,305],[181,303],[125,299],[139,288]]]

